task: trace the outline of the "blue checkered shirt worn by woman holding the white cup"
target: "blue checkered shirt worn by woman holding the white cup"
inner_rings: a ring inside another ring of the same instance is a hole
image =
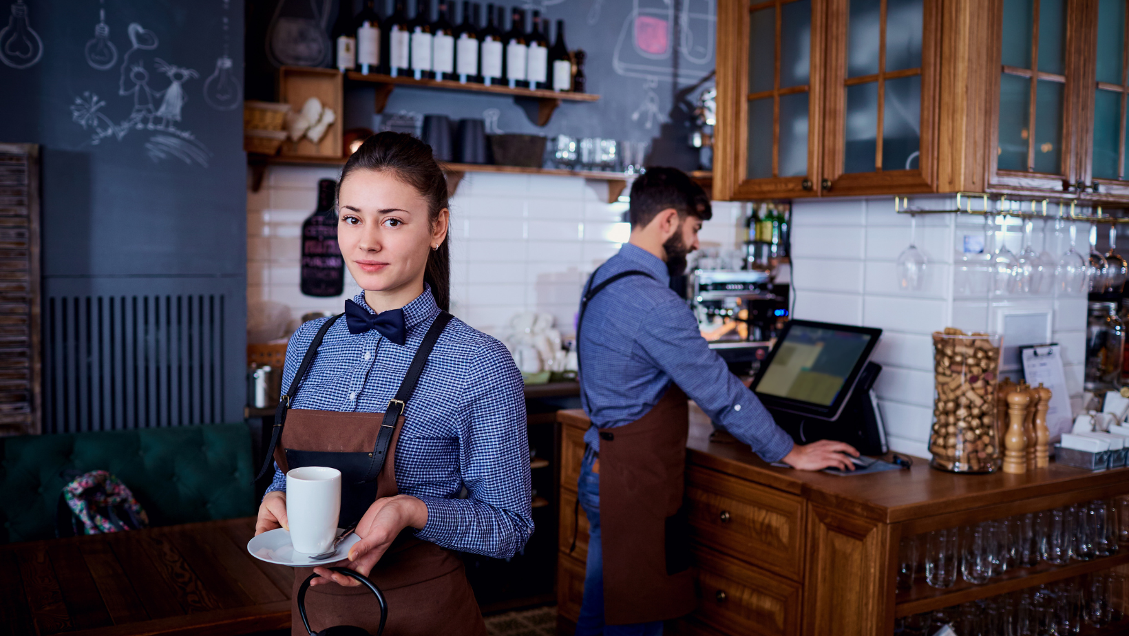
[[[373,311],[364,294],[353,302]],[[405,305],[404,346],[375,329],[349,333],[344,317],[339,319],[325,333],[291,407],[383,412],[437,315],[430,289]],[[290,338],[283,391],[326,320],[307,322]],[[427,525],[415,535],[497,558],[509,558],[525,546],[533,533],[525,427],[522,374],[506,346],[452,320],[408,401],[396,443],[396,486],[427,504]],[[470,497],[461,499],[464,486]],[[278,465],[271,490],[286,490]]]

